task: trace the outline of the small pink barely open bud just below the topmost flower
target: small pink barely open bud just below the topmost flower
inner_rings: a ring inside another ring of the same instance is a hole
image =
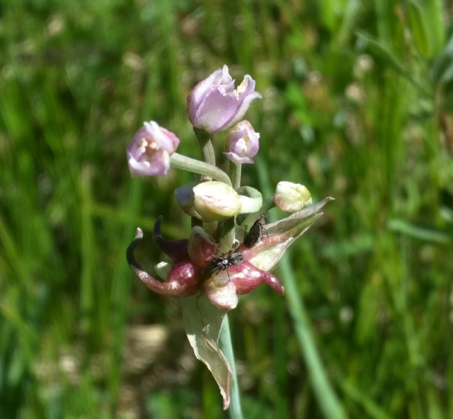
[[[228,151],[225,156],[233,163],[254,163],[252,157],[258,153],[260,134],[253,130],[250,122],[238,122],[228,132]]]

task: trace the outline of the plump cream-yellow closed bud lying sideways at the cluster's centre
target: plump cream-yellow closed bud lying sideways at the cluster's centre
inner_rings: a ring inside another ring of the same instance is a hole
[[[222,221],[241,212],[239,194],[223,182],[202,182],[193,188],[193,207],[204,222]]]

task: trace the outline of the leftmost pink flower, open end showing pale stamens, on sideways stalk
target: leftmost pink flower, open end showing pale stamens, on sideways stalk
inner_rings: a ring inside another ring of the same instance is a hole
[[[144,122],[129,147],[127,164],[133,177],[166,175],[170,168],[170,156],[179,145],[173,132],[159,127],[156,122]]]

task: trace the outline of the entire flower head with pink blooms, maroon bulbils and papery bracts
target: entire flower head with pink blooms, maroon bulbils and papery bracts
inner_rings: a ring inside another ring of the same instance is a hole
[[[213,338],[207,336],[214,330],[207,325],[215,323],[212,318],[216,316],[222,319],[226,311],[236,307],[239,295],[258,285],[267,284],[279,295],[285,292],[270,270],[287,247],[321,217],[323,205],[331,199],[311,205],[305,186],[286,181],[278,183],[275,195],[265,200],[255,188],[241,186],[241,165],[253,163],[259,149],[260,134],[250,122],[242,120],[256,98],[261,95],[255,91],[251,76],[246,75],[235,88],[228,67],[224,66],[200,81],[187,99],[188,117],[204,161],[178,154],[178,137],[154,121],[145,122],[127,147],[132,176],[166,175],[170,167],[202,175],[175,190],[181,209],[193,217],[188,239],[164,239],[162,217],[154,225],[154,243],[168,256],[168,260],[156,265],[161,280],[143,270],[134,258],[134,249],[143,236],[141,229],[137,229],[127,248],[127,261],[152,291],[185,297],[183,312],[190,343],[195,355],[210,367],[224,396],[225,408],[229,403],[229,366],[226,363],[224,370],[219,367],[219,359],[220,364],[224,362],[221,351],[215,356],[206,355],[207,349],[212,352],[217,345],[215,333]],[[224,156],[231,161],[230,173],[216,166],[215,143],[210,139],[210,134],[226,130]],[[292,214],[266,224],[265,214],[273,207]],[[206,305],[199,302],[200,297],[206,299]],[[203,306],[207,309],[200,308]],[[222,321],[217,323],[221,325]],[[198,334],[203,338],[198,339]]]

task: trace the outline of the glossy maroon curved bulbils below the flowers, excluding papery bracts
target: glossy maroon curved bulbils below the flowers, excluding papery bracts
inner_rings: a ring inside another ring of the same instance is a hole
[[[165,282],[149,275],[134,258],[134,249],[143,237],[141,229],[137,229],[126,252],[130,268],[152,291],[180,297],[205,291],[212,304],[222,310],[234,309],[238,302],[237,295],[248,294],[263,283],[273,287],[277,294],[283,294],[284,289],[277,278],[256,268],[248,260],[243,260],[236,266],[227,266],[226,269],[213,265],[213,260],[217,258],[217,244],[200,227],[194,227],[190,239],[169,241],[161,235],[161,223],[162,217],[159,217],[154,224],[154,243],[173,262],[157,268],[158,271],[165,272]]]

